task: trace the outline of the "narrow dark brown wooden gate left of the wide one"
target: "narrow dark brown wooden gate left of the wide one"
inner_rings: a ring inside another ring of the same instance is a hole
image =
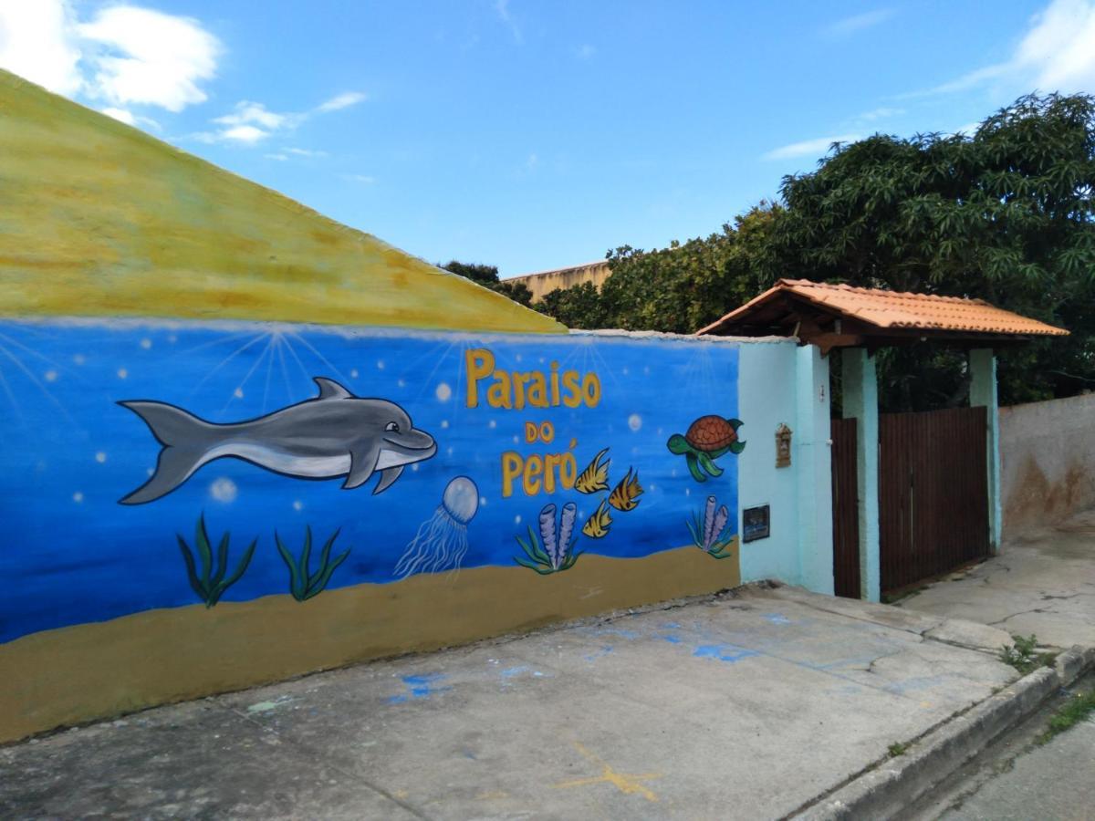
[[[832,419],[832,576],[837,595],[860,598],[856,420]]]

